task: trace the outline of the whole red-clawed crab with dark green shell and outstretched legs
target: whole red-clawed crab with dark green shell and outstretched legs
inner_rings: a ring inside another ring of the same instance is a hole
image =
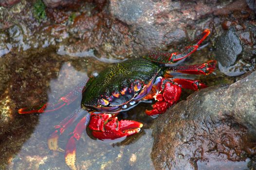
[[[204,30],[181,52],[151,51],[143,57],[117,63],[98,76],[83,81],[58,102],[21,108],[18,113],[53,112],[69,105],[82,93],[81,108],[56,125],[48,138],[49,149],[65,152],[66,164],[71,169],[76,169],[76,142],[87,126],[97,139],[122,139],[139,133],[143,124],[133,120],[118,120],[118,113],[127,111],[140,102],[152,100],[155,103],[145,112],[148,116],[157,117],[179,101],[182,88],[199,90],[206,87],[199,80],[174,78],[173,74],[208,75],[215,70],[215,60],[201,65],[177,66],[195,52],[209,34],[208,29]],[[66,149],[61,149],[58,146],[59,136],[78,119]]]

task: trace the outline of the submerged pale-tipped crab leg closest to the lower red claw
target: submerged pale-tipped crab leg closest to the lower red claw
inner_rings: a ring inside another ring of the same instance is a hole
[[[65,161],[66,161],[66,164],[72,170],[76,170],[76,166],[75,166],[76,141],[80,139],[89,121],[90,121],[90,114],[88,113],[85,117],[83,117],[77,123],[77,125],[74,128],[74,131],[70,134],[71,137],[66,145]]]

